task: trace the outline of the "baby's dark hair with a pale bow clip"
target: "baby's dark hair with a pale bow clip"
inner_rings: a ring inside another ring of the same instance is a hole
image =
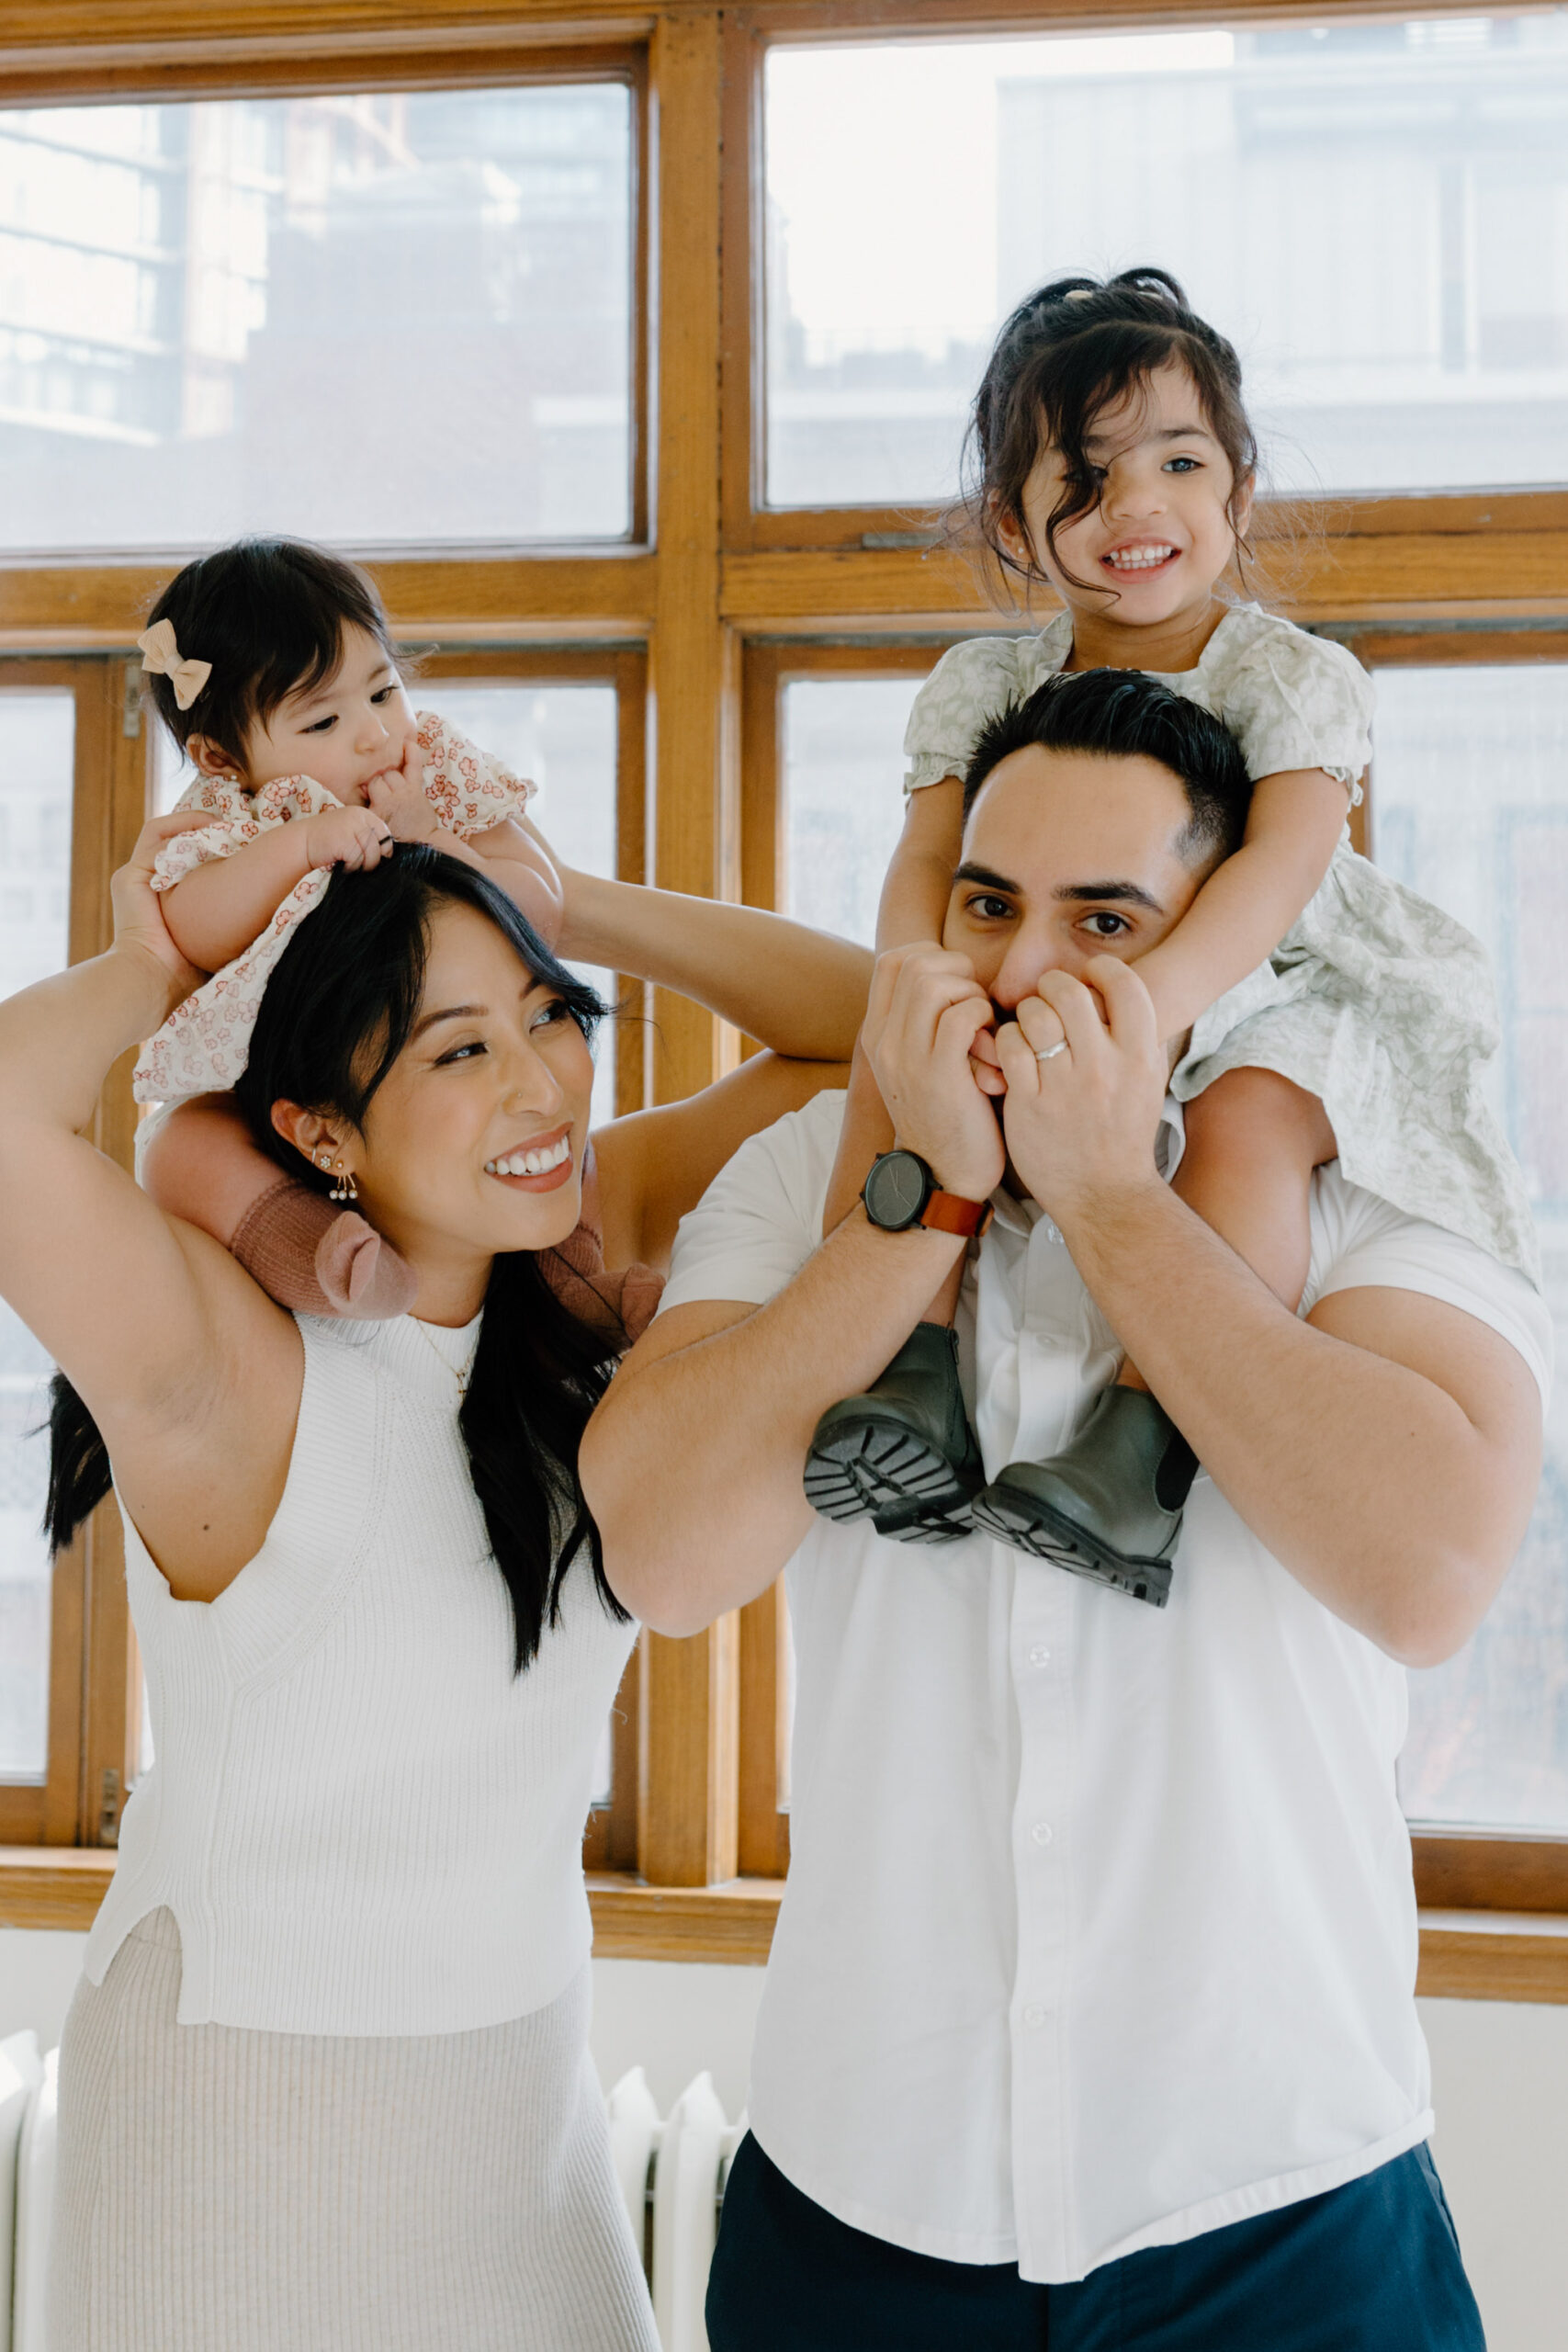
[[[183,661],[212,677],[181,710],[174,684],[148,675],[158,717],[179,748],[207,736],[244,771],[256,722],[299,691],[322,687],[343,659],[343,630],[362,628],[397,666],[388,616],[369,574],[303,539],[237,539],[176,572],[148,614],[169,621]]]

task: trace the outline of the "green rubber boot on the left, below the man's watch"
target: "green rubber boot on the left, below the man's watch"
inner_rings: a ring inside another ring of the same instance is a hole
[[[865,1392],[830,1404],[806,1454],[806,1501],[825,1519],[870,1517],[896,1543],[954,1543],[985,1484],[959,1388],[959,1343],[914,1324]]]

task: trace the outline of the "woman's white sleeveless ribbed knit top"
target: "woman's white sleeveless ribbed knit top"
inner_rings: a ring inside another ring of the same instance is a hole
[[[299,1317],[294,1456],[256,1557],[176,1602],[125,1576],[158,1762],[125,1809],[87,1976],[167,1903],[181,2025],[440,2034],[552,2002],[590,1945],[581,1839],[632,1628],[578,1557],[512,1672],[458,1432],[477,1343]]]

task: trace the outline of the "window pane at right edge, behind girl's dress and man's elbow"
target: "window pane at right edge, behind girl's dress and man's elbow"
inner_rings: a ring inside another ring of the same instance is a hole
[[[1486,941],[1493,1101],[1540,1221],[1568,1362],[1568,668],[1378,673],[1373,854]],[[1568,1397],[1523,1552],[1476,1639],[1410,1677],[1413,1820],[1568,1832]]]

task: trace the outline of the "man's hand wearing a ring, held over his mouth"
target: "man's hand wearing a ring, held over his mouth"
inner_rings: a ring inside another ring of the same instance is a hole
[[[1095,955],[1081,981],[1041,974],[1039,995],[997,1033],[997,1054],[1009,1157],[1063,1230],[1110,1192],[1159,1183],[1166,1054],[1150,993],[1128,964]]]

